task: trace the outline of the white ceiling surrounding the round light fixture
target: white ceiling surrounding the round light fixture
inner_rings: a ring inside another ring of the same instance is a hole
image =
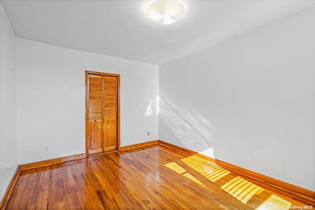
[[[65,48],[163,64],[315,8],[315,0],[186,0],[158,25],[146,0],[1,0],[15,35]]]

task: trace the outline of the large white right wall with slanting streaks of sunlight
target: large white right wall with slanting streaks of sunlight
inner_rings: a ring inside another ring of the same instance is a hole
[[[160,140],[315,191],[315,9],[159,66],[159,94]]]

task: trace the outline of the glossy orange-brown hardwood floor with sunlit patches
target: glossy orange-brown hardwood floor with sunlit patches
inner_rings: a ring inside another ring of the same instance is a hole
[[[6,210],[287,210],[302,206],[202,155],[164,146],[22,171]]]

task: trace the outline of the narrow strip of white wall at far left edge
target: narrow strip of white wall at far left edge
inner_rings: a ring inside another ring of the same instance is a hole
[[[0,200],[17,168],[15,34],[0,4]]]

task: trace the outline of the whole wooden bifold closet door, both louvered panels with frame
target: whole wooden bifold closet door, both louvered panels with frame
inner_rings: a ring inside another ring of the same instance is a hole
[[[120,75],[86,71],[87,154],[118,150]]]

